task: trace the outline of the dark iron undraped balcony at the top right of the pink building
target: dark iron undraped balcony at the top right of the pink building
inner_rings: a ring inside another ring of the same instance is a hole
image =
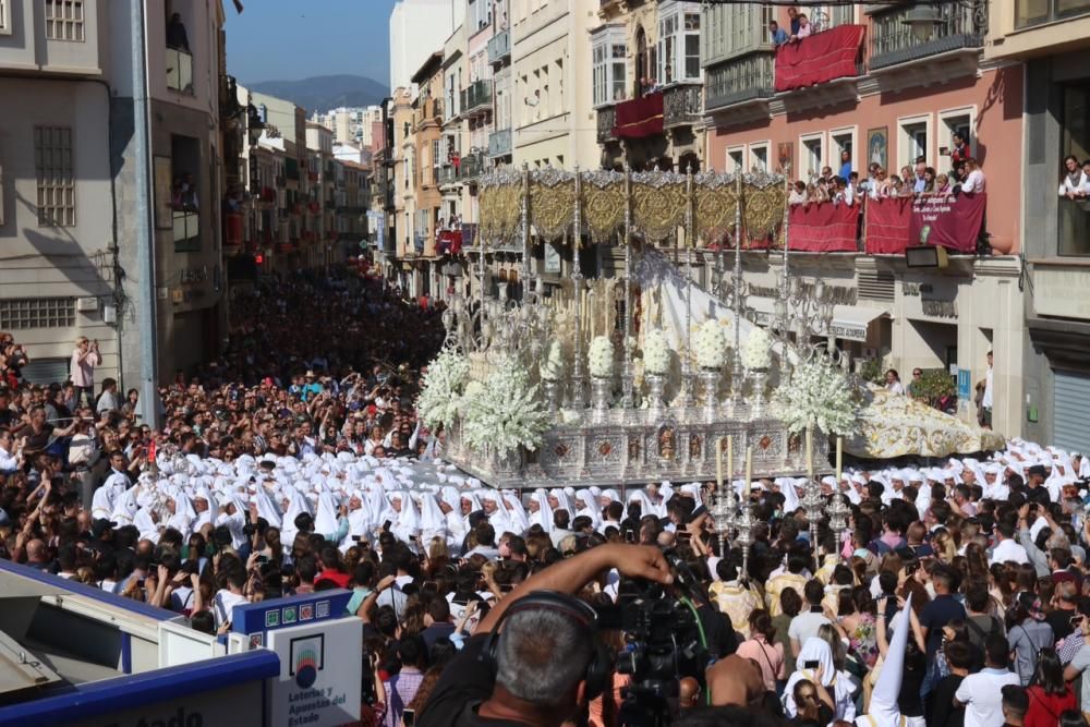
[[[871,25],[871,71],[954,51],[976,56],[988,34],[986,0],[972,0],[969,8],[943,3],[936,10],[943,20],[922,40],[904,23],[911,7],[875,13]]]

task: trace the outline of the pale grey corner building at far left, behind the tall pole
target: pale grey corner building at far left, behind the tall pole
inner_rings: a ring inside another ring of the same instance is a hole
[[[155,280],[136,260],[130,3],[5,0],[0,13],[0,329],[29,380],[63,380],[77,336],[106,376],[138,380],[138,288],[157,299],[164,380],[221,346],[223,14],[214,0],[147,7]],[[184,38],[168,34],[178,13]],[[124,271],[123,275],[121,271]]]

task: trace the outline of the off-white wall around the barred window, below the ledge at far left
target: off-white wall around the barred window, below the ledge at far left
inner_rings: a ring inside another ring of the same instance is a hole
[[[7,110],[0,122],[0,330],[25,346],[32,364],[66,359],[77,336],[97,339],[104,354],[97,380],[117,376],[117,336],[102,315],[113,304],[114,240],[106,88],[0,78],[0,98]],[[39,125],[72,130],[71,227],[38,223],[34,130]],[[3,313],[13,300],[40,311],[44,299],[70,299],[72,325],[23,327],[19,322],[25,318]]]

